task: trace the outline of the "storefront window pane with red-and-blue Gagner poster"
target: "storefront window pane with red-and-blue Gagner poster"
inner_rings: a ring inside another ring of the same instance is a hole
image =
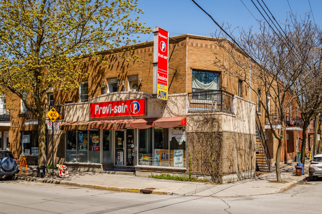
[[[90,129],[89,163],[99,163],[99,129]]]

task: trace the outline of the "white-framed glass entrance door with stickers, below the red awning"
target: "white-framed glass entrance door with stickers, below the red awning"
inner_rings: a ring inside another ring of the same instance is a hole
[[[115,166],[124,167],[125,163],[125,132],[121,130],[115,131]]]

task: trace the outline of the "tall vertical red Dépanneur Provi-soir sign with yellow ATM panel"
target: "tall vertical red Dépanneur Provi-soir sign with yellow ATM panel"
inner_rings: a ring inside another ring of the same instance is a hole
[[[154,28],[153,94],[159,99],[168,99],[169,32]]]

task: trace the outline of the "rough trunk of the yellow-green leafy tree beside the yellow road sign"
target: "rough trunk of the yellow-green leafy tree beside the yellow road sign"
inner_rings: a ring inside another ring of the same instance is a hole
[[[41,100],[35,98],[38,119],[38,166],[47,166],[45,108]]]

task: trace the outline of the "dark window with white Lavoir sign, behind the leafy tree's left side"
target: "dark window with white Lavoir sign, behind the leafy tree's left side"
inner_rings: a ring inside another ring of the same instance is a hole
[[[21,154],[38,155],[38,131],[21,132]]]

